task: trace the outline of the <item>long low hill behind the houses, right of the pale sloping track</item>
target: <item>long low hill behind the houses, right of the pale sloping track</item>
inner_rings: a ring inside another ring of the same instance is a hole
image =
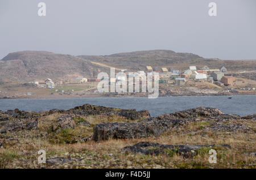
[[[131,53],[117,53],[112,55],[80,55],[93,62],[104,63],[118,68],[130,70],[145,70],[146,66],[175,67],[185,70],[188,66],[208,66],[221,68],[225,66],[230,71],[255,70],[256,61],[225,61],[221,59],[203,58],[192,53],[175,53],[172,50],[145,50]]]

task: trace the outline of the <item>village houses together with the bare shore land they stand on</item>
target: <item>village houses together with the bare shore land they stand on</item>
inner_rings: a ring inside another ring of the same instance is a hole
[[[118,72],[127,75],[127,79],[118,76]],[[44,81],[27,82],[24,88],[17,88],[13,95],[11,91],[4,92],[0,89],[1,98],[63,98],[63,97],[118,97],[118,96],[147,96],[140,90],[139,93],[115,92],[100,93],[97,84],[101,80],[111,84],[122,84],[123,80],[128,82],[128,78],[134,78],[134,85],[147,82],[147,74],[159,74],[159,96],[202,96],[202,95],[255,95],[256,81],[246,76],[255,76],[254,71],[228,71],[226,67],[211,69],[208,66],[189,66],[187,70],[178,70],[172,67],[152,67],[146,66],[144,70],[132,72],[126,69],[115,71],[115,78],[104,76],[97,77],[76,76],[70,79],[52,80],[47,78]],[[139,76],[139,82],[135,81],[135,76]],[[152,82],[154,85],[154,83]],[[9,86],[10,87],[10,86]],[[45,90],[43,90],[45,89]],[[9,90],[11,90],[9,88]]]

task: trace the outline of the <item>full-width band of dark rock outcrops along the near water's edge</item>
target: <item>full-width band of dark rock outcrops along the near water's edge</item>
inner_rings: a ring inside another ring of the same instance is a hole
[[[46,120],[52,115],[53,120]],[[89,117],[93,117],[93,122],[88,122]],[[199,107],[150,117],[147,110],[137,112],[135,109],[125,110],[85,104],[68,110],[52,109],[48,112],[24,112],[18,109],[1,111],[0,133],[33,130],[45,124],[41,131],[47,133],[51,131],[54,135],[52,138],[59,138],[55,135],[64,133],[64,142],[70,143],[81,139],[87,141],[90,138],[100,141],[160,136],[164,132],[179,130],[198,122],[207,124],[200,126],[198,131],[254,132],[253,128],[238,122],[242,119],[254,121],[255,114],[240,117],[236,114],[224,114],[216,108]],[[90,134],[92,131],[93,134]],[[65,136],[72,138],[67,139]]]

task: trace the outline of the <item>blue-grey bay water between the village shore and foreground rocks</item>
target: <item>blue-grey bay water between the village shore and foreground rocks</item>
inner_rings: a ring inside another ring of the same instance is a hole
[[[122,109],[149,110],[151,116],[174,113],[199,106],[221,109],[224,113],[247,115],[256,113],[256,96],[183,96],[183,97],[92,97],[60,99],[0,100],[0,110],[18,108],[26,111],[70,109],[78,105],[92,104]]]

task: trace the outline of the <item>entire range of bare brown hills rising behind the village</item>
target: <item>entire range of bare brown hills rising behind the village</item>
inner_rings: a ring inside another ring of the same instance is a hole
[[[23,51],[6,55],[0,60],[0,78],[32,81],[51,78],[69,79],[77,76],[96,77],[98,72],[108,72],[109,67],[133,71],[146,66],[175,67],[185,70],[188,66],[220,68],[229,71],[255,70],[256,61],[208,59],[192,53],[175,53],[172,50],[146,50],[111,55],[66,55],[44,51]]]

